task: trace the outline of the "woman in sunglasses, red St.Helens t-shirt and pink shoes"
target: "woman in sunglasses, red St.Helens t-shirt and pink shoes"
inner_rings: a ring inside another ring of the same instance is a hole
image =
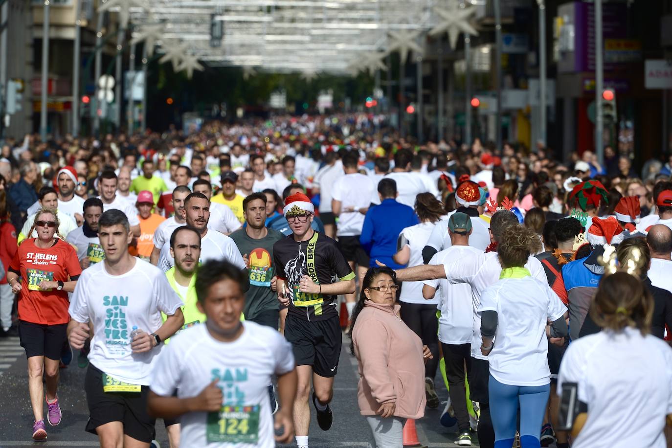
[[[12,292],[19,295],[19,339],[28,359],[35,440],[46,439],[43,373],[49,424],[60,423],[56,388],[60,353],[67,343],[66,328],[70,321],[68,293],[75,291],[81,274],[75,249],[62,236],[54,236],[58,224],[56,210],[38,210],[28,232],[31,235],[35,230],[37,238],[22,242],[7,272]]]

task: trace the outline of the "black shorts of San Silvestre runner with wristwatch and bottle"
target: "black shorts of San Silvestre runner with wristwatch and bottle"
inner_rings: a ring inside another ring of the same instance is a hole
[[[110,422],[122,422],[124,435],[144,443],[155,439],[155,418],[147,413],[149,386],[142,386],[142,392],[103,392],[103,372],[89,363],[84,379],[89,421],[87,433],[96,434],[95,429]]]

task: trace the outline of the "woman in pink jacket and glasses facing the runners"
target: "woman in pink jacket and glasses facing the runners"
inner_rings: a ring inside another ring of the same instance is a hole
[[[427,346],[399,317],[396,274],[369,269],[352,316],[350,349],[359,362],[358,402],[378,448],[402,448],[407,418],[425,413]]]

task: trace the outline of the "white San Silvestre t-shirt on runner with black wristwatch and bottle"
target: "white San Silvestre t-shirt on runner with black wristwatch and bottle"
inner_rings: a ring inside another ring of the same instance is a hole
[[[183,303],[165,273],[146,261],[134,261],[135,266],[122,275],[108,273],[105,262],[84,269],[68,312],[77,322],[93,324],[91,364],[123,382],[149,386],[163,345],[132,353],[132,328],[155,332],[163,324],[161,312],[171,316]]]

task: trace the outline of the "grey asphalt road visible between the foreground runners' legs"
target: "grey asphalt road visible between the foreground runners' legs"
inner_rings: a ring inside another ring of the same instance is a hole
[[[322,431],[314,420],[310,425],[311,448],[374,447],[370,429],[357,406],[357,361],[349,355],[349,339],[343,337],[343,350],[335,381],[332,409],[335,421],[330,431]],[[86,397],[83,390],[85,369],[77,367],[77,359],[60,371],[58,397],[62,421],[57,427],[47,425],[48,439],[41,443],[32,441],[32,410],[28,398],[28,373],[26,355],[18,338],[0,339],[0,447],[97,447],[97,437],[86,433],[88,418]],[[437,381],[439,398],[446,400],[448,393]],[[439,409],[427,409],[425,417],[417,421],[419,441],[429,448],[456,447],[453,441],[457,428],[448,429],[439,423]],[[46,405],[45,405],[46,412]],[[161,447],[168,446],[163,422],[157,422],[157,440]],[[286,445],[287,447],[296,447]],[[474,434],[474,446],[478,446]]]

